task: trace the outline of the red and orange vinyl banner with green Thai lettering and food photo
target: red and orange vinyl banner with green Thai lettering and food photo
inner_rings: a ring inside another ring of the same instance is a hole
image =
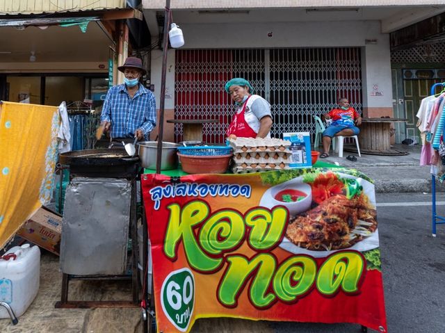
[[[143,174],[158,332],[198,318],[386,332],[371,179],[345,169]]]

